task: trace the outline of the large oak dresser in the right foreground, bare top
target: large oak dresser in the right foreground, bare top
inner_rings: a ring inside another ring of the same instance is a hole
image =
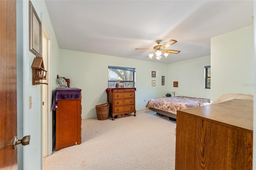
[[[176,170],[252,170],[253,101],[177,111]]]

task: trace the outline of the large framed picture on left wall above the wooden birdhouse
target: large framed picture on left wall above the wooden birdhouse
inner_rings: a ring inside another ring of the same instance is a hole
[[[36,56],[42,56],[42,24],[36,10],[29,1],[29,51]]]

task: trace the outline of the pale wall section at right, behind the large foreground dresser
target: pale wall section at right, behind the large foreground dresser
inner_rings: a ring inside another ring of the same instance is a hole
[[[253,25],[211,39],[211,100],[254,93]]]

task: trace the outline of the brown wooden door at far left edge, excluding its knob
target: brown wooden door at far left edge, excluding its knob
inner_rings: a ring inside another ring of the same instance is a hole
[[[17,169],[16,0],[0,0],[0,169]]]

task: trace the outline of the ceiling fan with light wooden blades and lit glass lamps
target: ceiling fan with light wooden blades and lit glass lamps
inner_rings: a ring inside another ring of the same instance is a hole
[[[178,54],[180,51],[177,50],[172,50],[172,49],[165,49],[166,47],[169,47],[170,45],[176,43],[176,40],[170,40],[166,42],[164,45],[160,45],[161,40],[156,40],[156,43],[158,45],[154,46],[153,49],[148,49],[148,48],[136,48],[139,50],[154,50],[155,52],[149,54],[147,57],[152,58],[154,54],[156,54],[156,59],[161,59],[162,58],[162,53],[165,57],[168,56],[169,53],[174,53]]]

